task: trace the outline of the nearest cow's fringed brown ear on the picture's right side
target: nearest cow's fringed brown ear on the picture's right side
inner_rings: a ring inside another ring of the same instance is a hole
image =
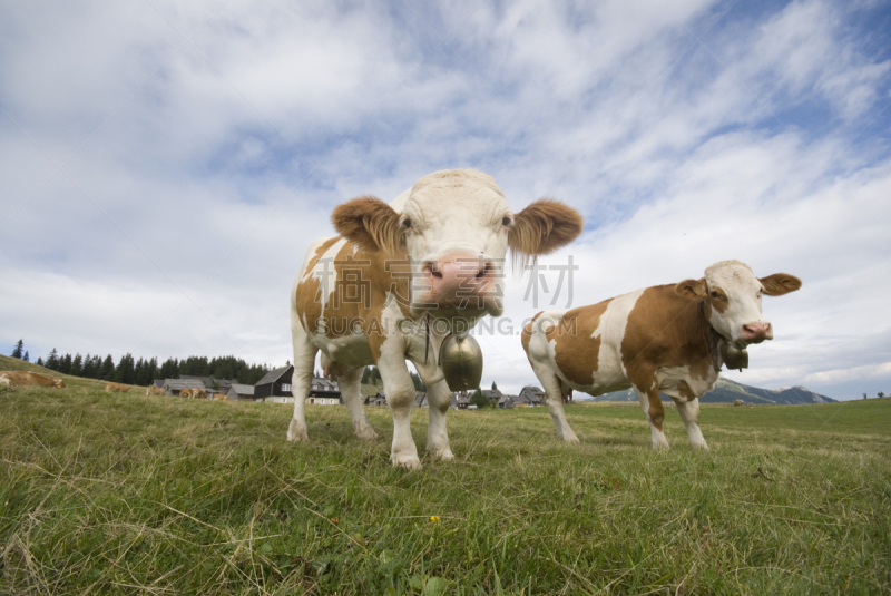
[[[520,258],[548,254],[576,240],[582,226],[584,219],[576,209],[559,201],[542,198],[513,216],[508,244]]]

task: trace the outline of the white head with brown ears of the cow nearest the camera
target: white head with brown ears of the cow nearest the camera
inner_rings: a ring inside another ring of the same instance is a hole
[[[582,227],[581,215],[558,201],[512,213],[495,180],[474,169],[424,176],[401,213],[360,197],[337,206],[332,222],[366,251],[408,255],[413,314],[461,319],[501,314],[508,247],[525,261],[568,244]]]

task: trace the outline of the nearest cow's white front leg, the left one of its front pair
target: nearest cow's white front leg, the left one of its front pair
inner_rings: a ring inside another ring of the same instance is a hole
[[[418,459],[418,447],[411,438],[411,409],[414,406],[415,391],[403,353],[395,345],[395,341],[384,342],[378,370],[381,371],[386,403],[393,412],[393,446],[390,450],[390,461],[393,466],[419,470],[421,460]]]

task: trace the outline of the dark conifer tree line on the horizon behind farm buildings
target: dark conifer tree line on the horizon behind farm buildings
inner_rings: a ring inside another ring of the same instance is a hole
[[[26,362],[29,361],[22,340],[19,340],[16,344],[11,355]],[[221,356],[209,360],[207,356],[189,356],[183,360],[168,358],[159,365],[157,358],[135,360],[133,354],[128,352],[120,356],[116,364],[111,354],[105,358],[98,354],[81,356],[80,353],[62,355],[55,348],[47,355],[46,361],[42,358],[38,358],[36,363],[62,374],[133,385],[148,385],[155,379],[176,379],[183,374],[229,379],[242,384],[252,385],[270,372],[270,368],[265,364],[248,364],[241,358],[235,356]]]

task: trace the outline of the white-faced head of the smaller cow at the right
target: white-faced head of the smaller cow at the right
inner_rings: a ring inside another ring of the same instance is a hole
[[[761,314],[761,296],[782,296],[801,287],[801,280],[786,273],[755,277],[748,265],[722,261],[705,270],[702,280],[677,284],[678,294],[703,302],[712,328],[737,346],[773,339],[771,323]]]

